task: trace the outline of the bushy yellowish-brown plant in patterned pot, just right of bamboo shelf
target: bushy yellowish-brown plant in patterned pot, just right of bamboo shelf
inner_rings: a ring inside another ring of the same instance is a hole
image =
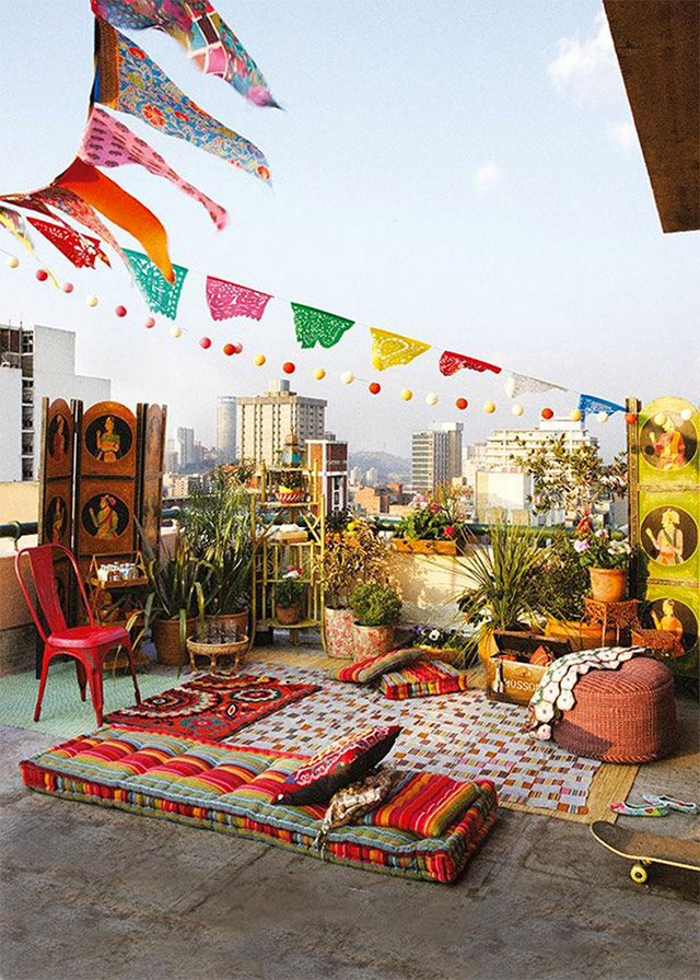
[[[349,607],[350,593],[359,583],[387,581],[389,544],[362,521],[346,515],[335,529],[327,529],[317,572],[324,593],[324,634],[326,653],[352,657],[354,616]]]

